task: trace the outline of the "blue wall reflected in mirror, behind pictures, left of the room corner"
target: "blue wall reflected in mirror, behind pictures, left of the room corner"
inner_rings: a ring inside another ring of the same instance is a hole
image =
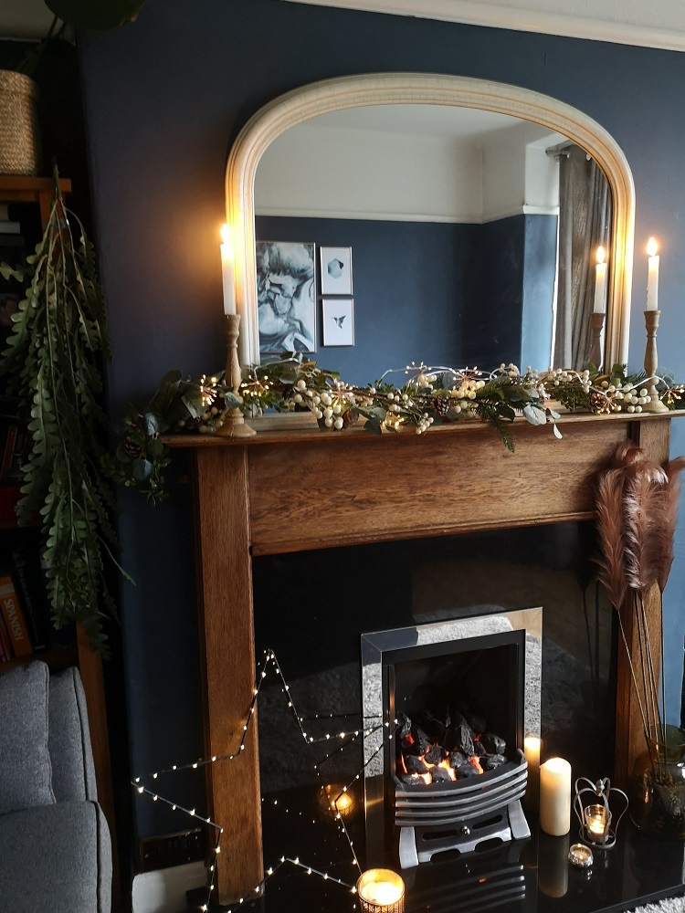
[[[260,240],[316,244],[319,302],[319,245],[352,247],[354,346],[322,347],[317,302],[314,357],[323,367],[364,384],[381,369],[467,357],[462,320],[479,293],[480,226],[262,215],[255,227]]]

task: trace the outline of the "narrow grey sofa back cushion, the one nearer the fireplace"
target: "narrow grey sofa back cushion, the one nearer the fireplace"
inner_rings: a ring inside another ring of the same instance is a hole
[[[47,747],[57,802],[98,798],[90,748],[86,696],[76,668],[50,676]]]

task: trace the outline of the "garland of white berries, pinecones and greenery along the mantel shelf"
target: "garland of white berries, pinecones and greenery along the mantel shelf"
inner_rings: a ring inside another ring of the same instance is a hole
[[[397,373],[403,375],[400,385],[390,381]],[[601,373],[593,365],[580,372],[557,368],[539,373],[527,368],[522,373],[514,364],[482,372],[421,363],[386,371],[375,383],[359,387],[342,381],[339,373],[288,353],[279,361],[249,368],[238,394],[223,373],[184,379],[174,371],[166,374],[142,412],[132,409],[126,416],[123,439],[115,454],[105,457],[104,469],[150,500],[162,499],[163,468],[170,459],[161,436],[215,434],[225,411],[236,407],[246,415],[267,409],[309,411],[323,431],[332,432],[343,431],[362,417],[364,430],[377,435],[407,426],[422,435],[432,425],[479,419],[513,452],[508,425],[517,415],[532,425],[550,423],[553,433],[561,437],[554,402],[569,411],[595,415],[639,413],[649,401],[646,385],[652,382],[669,409],[685,399],[685,384],[675,383],[669,373],[647,378],[644,373],[628,374],[625,365],[614,365],[610,373]]]

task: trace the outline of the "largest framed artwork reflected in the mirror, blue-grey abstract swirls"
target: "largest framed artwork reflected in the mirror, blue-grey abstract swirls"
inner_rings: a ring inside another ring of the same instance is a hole
[[[316,352],[314,248],[309,242],[257,242],[259,354]]]

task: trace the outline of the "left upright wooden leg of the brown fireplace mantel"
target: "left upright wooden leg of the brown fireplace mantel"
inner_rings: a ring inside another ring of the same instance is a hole
[[[198,448],[195,460],[205,750],[212,757],[237,750],[255,687],[248,458],[244,446],[216,446]],[[263,878],[256,714],[240,756],[208,771],[212,820],[224,828],[218,901],[228,905]]]

